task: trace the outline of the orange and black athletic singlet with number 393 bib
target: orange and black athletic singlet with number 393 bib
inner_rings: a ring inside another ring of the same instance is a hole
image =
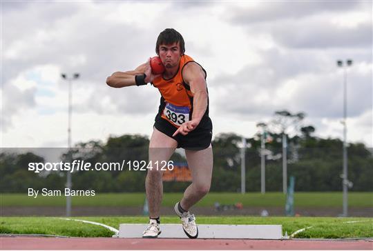
[[[190,62],[195,61],[187,55],[182,55],[178,72],[173,78],[164,79],[160,76],[152,82],[153,86],[158,88],[162,96],[157,116],[165,119],[171,123],[171,125],[175,126],[175,128],[179,128],[182,123],[192,119],[193,94],[189,85],[185,83],[182,78],[182,69]],[[203,68],[202,70],[206,75],[206,71]],[[207,110],[204,113],[202,120],[207,119],[207,117],[209,117],[209,102],[207,102]]]

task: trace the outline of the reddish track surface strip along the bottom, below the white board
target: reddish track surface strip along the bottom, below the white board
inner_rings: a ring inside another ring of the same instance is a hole
[[[373,240],[0,237],[0,250],[373,250]]]

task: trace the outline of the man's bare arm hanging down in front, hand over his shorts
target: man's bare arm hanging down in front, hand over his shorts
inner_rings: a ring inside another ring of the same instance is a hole
[[[206,112],[207,100],[209,99],[206,80],[204,79],[205,73],[198,63],[191,62],[185,65],[182,70],[182,77],[185,83],[190,86],[193,94],[193,114],[191,121],[182,123],[173,134],[173,137],[179,133],[187,135],[197,127],[204,112]]]

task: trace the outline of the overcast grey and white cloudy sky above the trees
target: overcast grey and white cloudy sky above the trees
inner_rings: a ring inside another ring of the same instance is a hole
[[[68,83],[73,143],[149,136],[160,93],[115,89],[106,77],[155,55],[175,28],[207,70],[213,135],[253,137],[276,110],[305,112],[319,137],[372,147],[372,1],[1,1],[1,147],[65,147]]]

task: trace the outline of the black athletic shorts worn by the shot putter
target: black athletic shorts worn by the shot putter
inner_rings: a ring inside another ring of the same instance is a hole
[[[212,122],[209,117],[201,120],[195,130],[189,132],[187,135],[177,134],[175,137],[172,135],[178,128],[171,125],[169,121],[160,117],[159,114],[155,117],[154,127],[163,132],[175,141],[178,141],[178,148],[187,150],[203,150],[210,146],[212,139]]]

